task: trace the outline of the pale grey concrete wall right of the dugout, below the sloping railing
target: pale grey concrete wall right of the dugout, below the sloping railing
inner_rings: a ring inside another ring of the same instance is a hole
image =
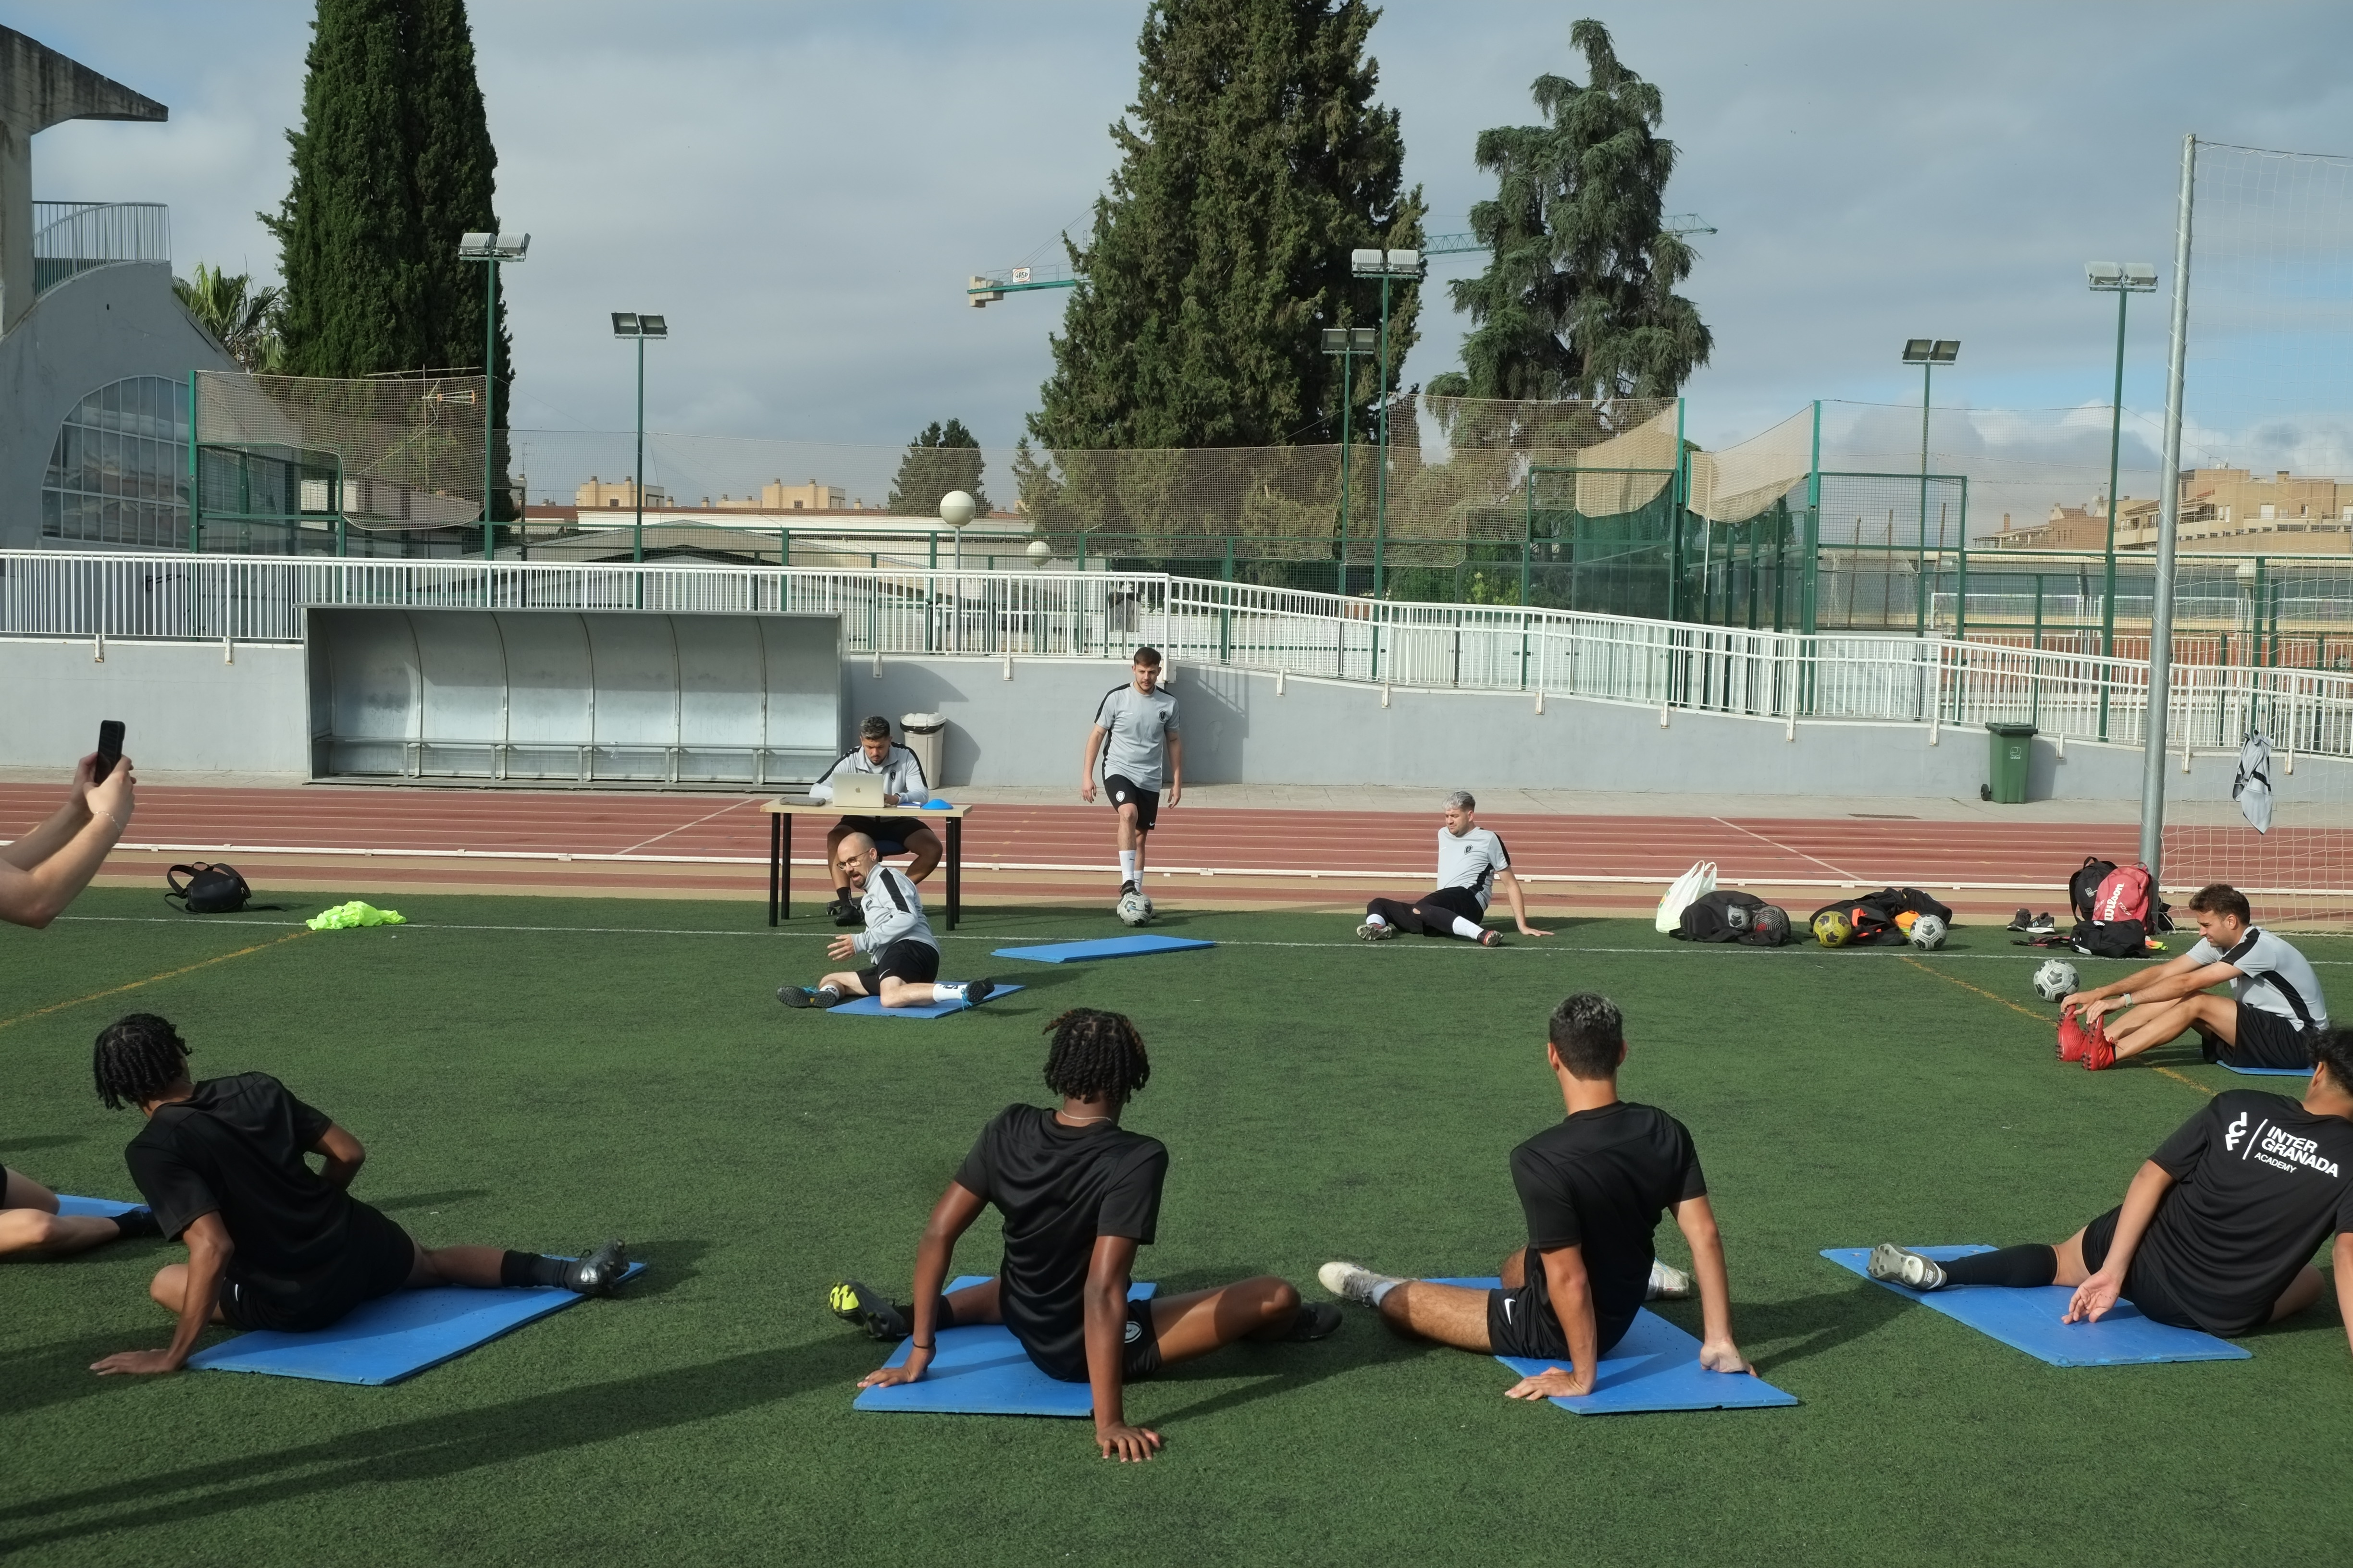
[[[880,679],[875,670],[880,668]],[[896,722],[941,712],[946,780],[1075,783],[1087,724],[1127,668],[1108,661],[882,658],[842,670],[842,715]],[[1972,797],[1986,783],[1984,729],[1798,724],[1546,696],[1391,691],[1179,665],[1186,783],[1332,783],[1532,790],[1739,790],[1753,795]],[[2172,799],[2228,799],[2235,762],[2167,771]],[[2139,799],[2141,752],[2035,741],[2031,799]]]

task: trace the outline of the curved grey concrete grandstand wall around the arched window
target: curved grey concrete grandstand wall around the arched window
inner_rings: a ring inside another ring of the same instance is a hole
[[[73,404],[108,381],[186,383],[193,369],[238,367],[172,294],[169,266],[125,261],[47,289],[0,336],[0,548],[42,548],[40,477]]]

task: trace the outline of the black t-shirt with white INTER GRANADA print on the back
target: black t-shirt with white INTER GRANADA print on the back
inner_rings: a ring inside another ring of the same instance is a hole
[[[2271,1319],[2313,1251],[2353,1229],[2353,1121],[2231,1088],[2148,1157],[2174,1178],[2132,1269],[2209,1333]]]

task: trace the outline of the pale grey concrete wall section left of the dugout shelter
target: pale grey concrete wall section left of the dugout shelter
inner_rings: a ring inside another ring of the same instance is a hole
[[[311,776],[304,651],[240,642],[0,639],[0,764],[73,771],[122,719],[122,750],[169,773]]]

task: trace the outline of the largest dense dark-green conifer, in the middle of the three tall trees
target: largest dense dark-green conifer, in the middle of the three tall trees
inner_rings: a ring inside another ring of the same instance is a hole
[[[1358,423],[1379,369],[1339,386],[1320,329],[1379,320],[1358,247],[1419,247],[1398,113],[1362,0],[1155,0],[1120,167],[1096,200],[1028,430],[1049,449],[1278,447]],[[1419,289],[1391,294],[1391,386]]]

